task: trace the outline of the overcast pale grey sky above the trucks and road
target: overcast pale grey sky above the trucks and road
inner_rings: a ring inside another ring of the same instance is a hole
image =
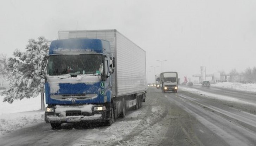
[[[60,30],[117,29],[146,51],[155,73],[239,72],[256,66],[255,0],[1,0],[0,53],[28,39],[55,40]],[[193,79],[194,80],[194,79]]]

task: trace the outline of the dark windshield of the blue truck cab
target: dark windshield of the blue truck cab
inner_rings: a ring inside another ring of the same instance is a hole
[[[96,74],[103,66],[101,54],[52,55],[49,56],[47,74]]]

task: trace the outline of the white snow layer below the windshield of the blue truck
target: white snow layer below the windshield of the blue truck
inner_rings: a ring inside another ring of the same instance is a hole
[[[47,81],[50,85],[50,93],[56,93],[59,91],[59,84],[77,84],[84,83],[87,85],[95,84],[101,81],[100,76],[90,76],[90,75],[77,75],[77,77],[71,77],[69,74],[51,76],[47,75]]]

